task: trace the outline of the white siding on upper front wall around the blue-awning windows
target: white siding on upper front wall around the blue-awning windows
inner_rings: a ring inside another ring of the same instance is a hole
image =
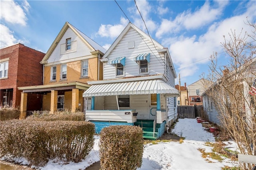
[[[134,41],[134,48],[128,49],[128,42]],[[142,38],[138,32],[130,28],[127,34],[120,40],[118,45],[108,55],[108,62],[104,63],[104,79],[116,78],[116,67],[110,61],[117,57],[126,57],[124,66],[124,76],[132,77],[139,74],[139,65],[134,61],[134,57],[142,53],[150,53],[150,63],[148,65],[148,75],[164,73],[164,55],[159,54],[154,44],[146,38]]]

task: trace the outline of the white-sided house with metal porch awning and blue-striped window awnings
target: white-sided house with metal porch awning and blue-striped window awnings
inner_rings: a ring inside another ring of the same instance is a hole
[[[103,80],[83,93],[86,121],[96,132],[110,125],[138,125],[159,138],[177,119],[176,72],[168,48],[129,23],[102,59]]]

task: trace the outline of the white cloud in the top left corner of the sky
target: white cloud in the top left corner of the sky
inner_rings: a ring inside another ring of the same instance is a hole
[[[27,11],[30,7],[27,1],[24,1],[23,7]],[[11,24],[20,24],[22,26],[26,26],[26,13],[21,8],[21,6],[14,2],[13,0],[4,0],[1,1],[1,20],[5,20]]]

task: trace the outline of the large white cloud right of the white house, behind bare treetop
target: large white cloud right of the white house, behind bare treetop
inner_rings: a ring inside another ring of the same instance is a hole
[[[233,32],[236,30],[238,34],[243,28],[241,35],[244,35],[245,32],[251,33],[251,28],[244,22],[246,22],[246,16],[256,17],[253,8],[250,6],[247,12],[242,15],[213,23],[208,31],[199,37],[194,35],[192,37],[166,38],[164,43],[169,44],[172,61],[179,67],[176,72],[182,73],[183,77],[193,75],[195,71],[200,69],[198,65],[208,62],[206,58],[210,57],[214,51],[220,53],[223,50],[220,43],[224,42],[223,36],[227,40],[229,39],[228,33],[231,33],[231,30]]]

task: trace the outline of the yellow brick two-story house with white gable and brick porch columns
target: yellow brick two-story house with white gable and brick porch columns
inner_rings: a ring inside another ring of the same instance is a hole
[[[40,62],[44,84],[19,87],[23,91],[20,117],[26,117],[29,93],[42,95],[42,111],[83,111],[82,93],[90,87],[87,81],[102,79],[100,59],[105,52],[106,49],[66,22]]]

